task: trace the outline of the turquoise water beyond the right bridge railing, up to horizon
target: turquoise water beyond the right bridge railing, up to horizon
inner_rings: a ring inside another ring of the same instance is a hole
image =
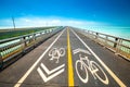
[[[130,27],[87,27],[87,29],[130,39]]]

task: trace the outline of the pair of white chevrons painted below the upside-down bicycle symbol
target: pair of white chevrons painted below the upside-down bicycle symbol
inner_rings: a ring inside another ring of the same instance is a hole
[[[38,67],[37,71],[38,71],[39,75],[41,76],[41,78],[42,78],[44,82],[48,82],[48,80],[54,78],[55,76],[57,76],[58,74],[63,73],[63,72],[64,72],[64,69],[62,69],[62,67],[64,67],[64,66],[65,66],[65,64],[62,64],[62,65],[57,66],[56,69],[54,69],[54,70],[52,70],[52,71],[49,71],[49,70],[47,69],[47,66],[46,66],[43,63],[41,63],[41,67],[46,71],[46,73],[47,73],[48,75],[55,72],[54,74],[52,74],[52,75],[50,75],[50,76],[48,76],[48,77],[44,75],[44,73],[42,72],[42,70],[41,70],[40,67]],[[61,69],[61,70],[60,70],[60,69]],[[57,70],[60,70],[60,71],[57,71]],[[57,71],[57,72],[56,72],[56,71]]]

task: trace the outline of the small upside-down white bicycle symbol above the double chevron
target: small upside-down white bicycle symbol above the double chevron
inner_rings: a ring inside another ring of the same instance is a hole
[[[49,51],[49,57],[51,57],[50,60],[56,59],[56,63],[58,63],[58,60],[61,57],[65,55],[65,49],[64,48],[53,48]]]

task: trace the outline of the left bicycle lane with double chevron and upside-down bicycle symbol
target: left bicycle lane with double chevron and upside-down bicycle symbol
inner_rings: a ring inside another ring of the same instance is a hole
[[[57,36],[55,42],[53,41],[52,45],[50,45],[50,47],[48,47],[48,49],[43,52],[44,54],[41,54],[41,57],[38,58],[38,60],[41,60],[38,61],[28,76],[26,76],[27,73],[25,73],[14,87],[66,86],[66,29],[64,29]],[[30,69],[28,71],[30,71]]]

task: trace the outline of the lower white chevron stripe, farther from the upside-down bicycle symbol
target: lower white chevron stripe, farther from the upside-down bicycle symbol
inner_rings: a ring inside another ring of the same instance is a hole
[[[44,83],[47,83],[48,80],[54,78],[55,76],[57,76],[58,74],[63,73],[64,72],[64,69],[60,70],[58,72],[52,74],[51,76],[47,77],[43,72],[41,71],[40,67],[38,67],[38,73],[40,74],[41,78],[44,80]]]

